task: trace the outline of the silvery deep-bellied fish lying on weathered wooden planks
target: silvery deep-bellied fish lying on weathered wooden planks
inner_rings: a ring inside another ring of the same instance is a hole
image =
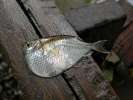
[[[74,67],[82,57],[93,51],[109,53],[103,46],[107,40],[86,43],[69,35],[50,36],[24,45],[29,69],[39,77],[54,77]]]

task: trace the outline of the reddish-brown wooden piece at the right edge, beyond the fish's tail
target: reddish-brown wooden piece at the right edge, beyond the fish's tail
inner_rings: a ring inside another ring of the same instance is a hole
[[[133,64],[133,23],[128,25],[127,29],[124,30],[117,38],[114,44],[114,51],[117,52],[121,59],[124,60],[126,65],[129,67]]]

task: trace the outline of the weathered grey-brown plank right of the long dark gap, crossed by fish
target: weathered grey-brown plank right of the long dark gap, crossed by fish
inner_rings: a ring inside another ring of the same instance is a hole
[[[54,0],[27,0],[24,2],[24,5],[27,9],[30,9],[33,13],[34,17],[36,17],[36,21],[39,24],[42,31],[42,36],[45,37],[46,35],[57,35],[57,34],[66,34],[66,35],[76,35],[76,32],[73,28],[67,23],[64,16],[60,14],[59,9],[56,7]],[[45,34],[43,29],[48,33]],[[74,89],[78,99],[80,100],[96,100],[97,98],[102,98],[103,95],[100,95],[100,92],[103,91],[102,86],[100,86],[101,82],[98,83],[99,91],[98,94],[95,93],[95,88],[92,86],[90,79],[92,76],[88,75],[90,71],[86,70],[87,68],[92,68],[95,73],[101,72],[96,64],[91,66],[92,63],[95,63],[91,60],[91,57],[85,61],[85,64],[79,62],[79,68],[73,68],[64,73],[64,78],[68,81],[68,83]],[[94,69],[94,68],[95,69]],[[95,74],[94,73],[94,74]],[[99,74],[101,77],[101,73]],[[102,82],[105,82],[102,79]],[[110,87],[109,83],[108,89],[111,89],[111,93],[106,93],[104,96],[114,94],[112,88]],[[108,91],[108,90],[107,90]],[[100,95],[100,96],[99,96]],[[111,95],[112,96],[112,95]],[[109,96],[110,97],[110,96]],[[112,96],[113,98],[116,97],[115,95]],[[117,97],[116,97],[117,98]],[[111,98],[112,99],[112,98]]]

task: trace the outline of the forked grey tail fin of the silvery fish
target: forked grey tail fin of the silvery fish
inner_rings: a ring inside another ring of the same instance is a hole
[[[107,42],[107,40],[97,41],[97,42],[93,43],[92,49],[97,52],[108,54],[108,53],[110,53],[110,51],[106,50],[106,48],[104,47],[106,42]]]

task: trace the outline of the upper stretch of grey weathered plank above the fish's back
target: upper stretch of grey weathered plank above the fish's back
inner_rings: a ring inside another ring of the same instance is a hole
[[[24,5],[27,9],[31,10],[32,14],[36,18],[38,26],[42,31],[42,35],[76,35],[76,33],[73,32],[73,29],[64,20],[64,16],[59,15],[60,11],[56,9],[53,0],[26,0]],[[67,28],[69,28],[69,30]]]

